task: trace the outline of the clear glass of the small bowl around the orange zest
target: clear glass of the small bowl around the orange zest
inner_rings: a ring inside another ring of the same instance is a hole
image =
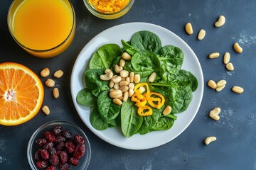
[[[92,13],[94,16],[97,16],[98,18],[102,18],[102,19],[115,19],[115,18],[119,18],[121,16],[124,16],[125,13],[127,13],[130,8],[132,8],[132,5],[134,4],[135,0],[130,0],[129,3],[127,4],[127,6],[125,6],[122,10],[116,12],[116,13],[102,13],[100,11],[97,11],[92,4],[90,4],[88,2],[88,0],[83,0],[85,3],[86,8],[90,11],[90,13]]]

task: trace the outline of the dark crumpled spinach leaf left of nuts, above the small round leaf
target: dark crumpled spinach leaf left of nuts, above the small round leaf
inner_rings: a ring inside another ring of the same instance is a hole
[[[100,79],[100,75],[104,74],[105,69],[87,69],[85,71],[85,85],[94,96],[99,96],[102,91],[109,90],[108,81]]]

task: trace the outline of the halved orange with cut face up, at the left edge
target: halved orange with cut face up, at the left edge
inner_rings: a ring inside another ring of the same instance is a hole
[[[0,64],[0,125],[20,125],[31,120],[43,103],[43,84],[21,64]]]

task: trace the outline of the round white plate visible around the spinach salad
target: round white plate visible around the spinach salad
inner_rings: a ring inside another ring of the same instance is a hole
[[[90,61],[92,53],[97,50],[101,45],[107,43],[116,43],[122,47],[121,40],[130,40],[132,35],[139,30],[149,30],[161,39],[162,45],[175,45],[184,53],[184,61],[182,69],[192,72],[198,79],[198,89],[193,92],[193,100],[188,106],[188,109],[177,114],[177,120],[175,121],[173,127],[170,130],[150,132],[146,135],[133,135],[132,137],[124,137],[119,128],[108,128],[107,130],[95,130],[90,124],[90,108],[80,106],[76,102],[76,96],[78,92],[85,87],[85,82],[83,79],[85,69],[87,68],[87,62]],[[172,33],[166,28],[156,26],[150,23],[124,23],[119,26],[114,26],[102,33],[92,38],[90,42],[85,45],[77,60],[75,61],[73,72],[71,75],[71,94],[75,108],[80,115],[82,121],[87,125],[87,127],[92,130],[98,137],[106,142],[117,147],[122,147],[126,149],[149,149],[152,147],[158,147],[160,145],[166,144],[175,137],[181,134],[188,125],[195,118],[198,112],[201,100],[203,97],[203,72],[201,65],[198,62],[198,58],[191,48],[177,35]]]

